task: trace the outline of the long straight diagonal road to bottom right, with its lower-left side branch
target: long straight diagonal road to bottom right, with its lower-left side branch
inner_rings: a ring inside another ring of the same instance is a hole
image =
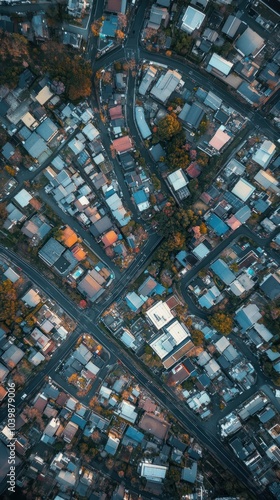
[[[121,349],[113,339],[105,335],[103,330],[97,325],[97,318],[100,313],[94,308],[90,311],[81,311],[78,309],[77,305],[71,300],[65,297],[60,290],[52,285],[46,278],[44,278],[34,267],[27,264],[23,259],[15,255],[10,250],[6,250],[4,247],[0,247],[1,252],[11,258],[13,262],[18,265],[22,271],[29,276],[29,278],[37,284],[42,290],[44,290],[53,300],[55,300],[75,321],[78,322],[78,329],[73,332],[69,338],[59,347],[51,358],[50,362],[44,367],[43,371],[35,376],[25,387],[24,391],[17,395],[16,404],[20,406],[21,395],[26,392],[29,396],[34,393],[38,388],[40,383],[42,383],[43,378],[48,375],[53,378],[55,373],[55,368],[64,359],[70,350],[74,347],[77,338],[82,332],[91,333],[94,338],[100,342],[104,348],[110,354],[110,364],[112,364],[117,358],[122,361],[124,366],[134,375],[134,377],[146,387],[159,401],[159,403],[165,406],[173,415],[178,419],[178,421],[185,427],[189,432],[193,433],[197,439],[204,443],[209,450],[214,453],[218,460],[224,464],[224,466],[230,469],[234,474],[236,474],[240,480],[246,484],[246,486],[254,491],[257,495],[256,485],[253,483],[252,479],[248,477],[248,472],[242,464],[235,461],[233,453],[228,450],[225,446],[221,444],[219,439],[214,435],[209,433],[207,429],[207,422],[201,422],[198,418],[193,415],[193,413],[182,403],[177,402],[174,395],[167,392],[166,388],[161,387],[161,381],[159,380],[159,385],[156,382],[150,380],[150,376],[139,368],[135,359],[131,354],[127,354],[123,349]],[[122,285],[122,289],[125,285]],[[117,296],[119,291],[116,291]],[[107,307],[104,303],[102,304],[102,310]],[[5,419],[6,409],[2,408],[0,410],[0,420]],[[212,426],[211,426],[212,427]],[[256,497],[257,498],[257,497]]]

